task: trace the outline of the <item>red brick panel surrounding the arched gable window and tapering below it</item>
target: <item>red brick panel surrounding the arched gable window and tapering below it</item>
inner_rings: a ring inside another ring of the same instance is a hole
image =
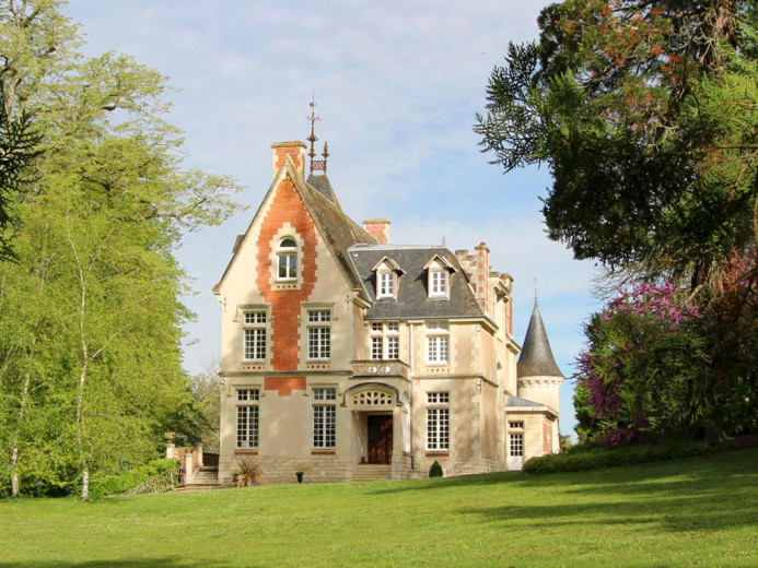
[[[271,247],[276,246],[272,241],[284,223],[289,223],[303,241],[303,258],[299,259],[302,284],[296,289],[271,288],[276,270],[271,265]],[[295,370],[301,362],[300,306],[307,301],[316,283],[316,227],[291,179],[282,180],[277,188],[261,222],[256,246],[259,267],[256,284],[266,301],[271,304],[271,367],[273,370]]]

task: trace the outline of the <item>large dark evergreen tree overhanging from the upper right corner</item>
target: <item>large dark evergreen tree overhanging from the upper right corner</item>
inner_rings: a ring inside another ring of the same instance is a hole
[[[548,235],[611,272],[697,286],[758,241],[758,16],[748,0],[567,0],[510,44],[475,131],[547,164]]]

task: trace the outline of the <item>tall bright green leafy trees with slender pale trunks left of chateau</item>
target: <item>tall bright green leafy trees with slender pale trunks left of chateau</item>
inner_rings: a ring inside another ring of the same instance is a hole
[[[83,59],[61,2],[0,7],[9,114],[35,109],[44,153],[0,263],[0,490],[66,490],[153,455],[167,430],[199,436],[180,367],[173,251],[222,222],[237,189],[183,168],[165,78],[126,56]],[[4,67],[2,67],[4,66]]]

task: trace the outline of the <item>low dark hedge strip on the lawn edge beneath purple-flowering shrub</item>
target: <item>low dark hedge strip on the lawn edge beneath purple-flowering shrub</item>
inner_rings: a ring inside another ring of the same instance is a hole
[[[550,453],[540,458],[532,458],[524,464],[527,473],[558,473],[599,470],[615,465],[631,465],[634,463],[655,462],[704,455],[714,453],[716,449],[707,443],[676,445],[639,445],[618,448],[599,448],[578,446],[563,453]]]

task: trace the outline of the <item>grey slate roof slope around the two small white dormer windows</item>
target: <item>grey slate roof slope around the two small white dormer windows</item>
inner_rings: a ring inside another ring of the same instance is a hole
[[[468,279],[453,252],[444,247],[412,245],[358,245],[348,250],[363,289],[372,306],[368,320],[480,318],[483,312],[468,285]],[[450,297],[430,298],[423,267],[435,256],[453,267]],[[404,271],[398,277],[396,298],[376,298],[376,274],[373,268],[387,257]]]

